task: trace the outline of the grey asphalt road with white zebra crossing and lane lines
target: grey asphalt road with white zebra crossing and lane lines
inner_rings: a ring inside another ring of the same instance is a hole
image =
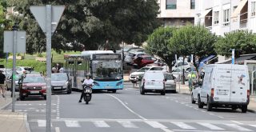
[[[256,131],[256,114],[241,110],[206,111],[186,94],[139,94],[126,82],[116,94],[94,93],[89,105],[80,93],[52,95],[52,131],[56,132],[210,132]],[[6,108],[11,110],[11,106]],[[16,111],[28,114],[32,132],[46,131],[46,101],[18,101]]]

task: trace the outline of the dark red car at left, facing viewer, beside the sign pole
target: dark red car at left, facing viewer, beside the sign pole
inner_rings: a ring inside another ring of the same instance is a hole
[[[46,80],[40,74],[26,74],[19,80],[19,97],[21,100],[32,97],[43,97],[46,99]]]

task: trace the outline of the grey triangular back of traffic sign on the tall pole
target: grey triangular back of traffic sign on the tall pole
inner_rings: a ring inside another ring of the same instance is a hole
[[[62,13],[65,6],[51,6],[51,33],[54,33],[58,26],[59,19],[62,17]],[[30,6],[34,18],[37,20],[42,31],[46,33],[46,6]]]

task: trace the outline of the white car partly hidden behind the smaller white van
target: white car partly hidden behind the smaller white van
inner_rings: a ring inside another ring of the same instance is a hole
[[[130,82],[136,83],[138,82],[138,78],[142,78],[143,74],[145,73],[146,70],[164,70],[161,66],[145,66],[142,67],[141,69],[133,72],[130,74]]]

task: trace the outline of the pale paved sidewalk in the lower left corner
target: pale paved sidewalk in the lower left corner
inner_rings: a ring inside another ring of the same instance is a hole
[[[26,113],[2,110],[10,105],[11,102],[10,91],[6,91],[6,98],[2,98],[2,95],[0,96],[0,131],[30,132]]]

